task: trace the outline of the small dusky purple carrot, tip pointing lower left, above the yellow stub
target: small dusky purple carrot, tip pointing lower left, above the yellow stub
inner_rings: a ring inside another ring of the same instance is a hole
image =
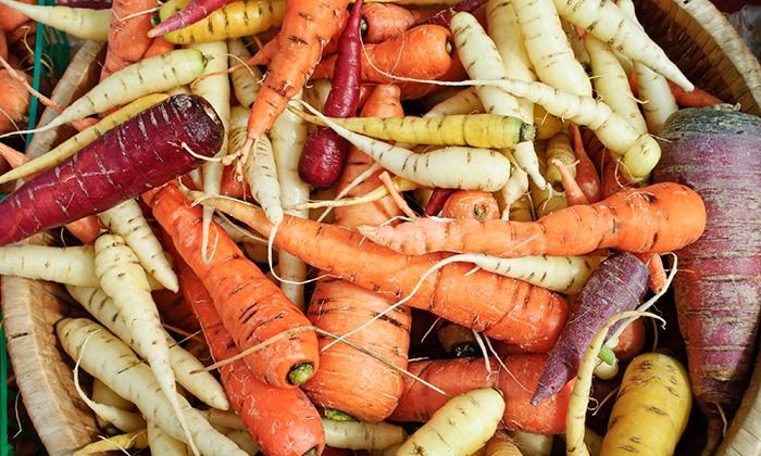
[[[639,304],[648,275],[645,263],[631,253],[616,253],[600,263],[578,293],[558,343],[549,352],[533,405],[560,391],[578,372],[584,352],[610,317]]]

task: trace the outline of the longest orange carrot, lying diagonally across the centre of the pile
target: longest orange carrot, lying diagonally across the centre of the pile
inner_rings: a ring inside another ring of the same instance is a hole
[[[264,236],[273,229],[257,206],[214,197],[205,198],[202,204]],[[446,257],[399,254],[355,231],[290,216],[278,226],[275,245],[333,276],[392,299],[408,296],[421,277]],[[471,269],[464,263],[440,267],[421,282],[406,304],[525,350],[542,352],[554,344],[567,314],[562,296],[483,270],[467,275]]]

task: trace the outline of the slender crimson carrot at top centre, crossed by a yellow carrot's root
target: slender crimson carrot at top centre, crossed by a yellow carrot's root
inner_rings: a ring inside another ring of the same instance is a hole
[[[360,41],[360,10],[362,0],[357,1],[351,16],[338,39],[336,71],[330,93],[325,101],[325,115],[349,117],[357,113],[360,104],[360,81],[362,71],[362,42]],[[299,160],[299,176],[304,182],[315,187],[330,187],[344,170],[349,154],[349,141],[327,127],[316,127],[307,139]]]

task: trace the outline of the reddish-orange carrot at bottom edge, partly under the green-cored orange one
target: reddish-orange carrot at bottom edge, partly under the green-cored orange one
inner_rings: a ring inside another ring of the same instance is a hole
[[[239,354],[201,279],[182,258],[175,266],[185,300],[203,328],[214,360]],[[284,390],[260,381],[242,359],[222,366],[220,375],[235,413],[263,453],[288,456],[322,452],[325,435],[320,414],[301,390]]]

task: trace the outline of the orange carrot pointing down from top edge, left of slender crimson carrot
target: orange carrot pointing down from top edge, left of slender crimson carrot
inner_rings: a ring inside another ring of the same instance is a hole
[[[239,164],[246,163],[253,142],[272,127],[288,100],[309,80],[323,48],[339,30],[348,4],[349,0],[287,1],[277,52],[251,107]]]

